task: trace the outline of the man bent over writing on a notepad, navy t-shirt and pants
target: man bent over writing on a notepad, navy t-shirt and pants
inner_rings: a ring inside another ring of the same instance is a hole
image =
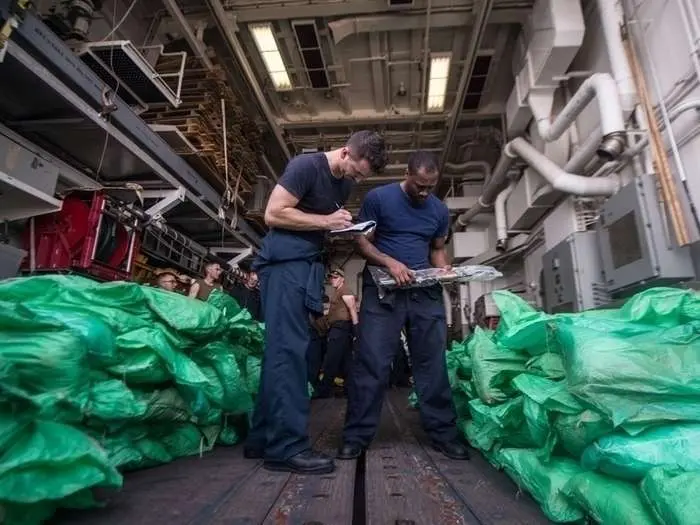
[[[352,216],[342,206],[353,182],[386,164],[384,139],[354,133],[342,148],[292,159],[270,194],[265,223],[270,231],[253,264],[265,319],[265,353],[247,458],[265,467],[306,474],[334,469],[333,460],[310,448],[306,356],[310,316],[323,314],[328,230],[345,228]]]

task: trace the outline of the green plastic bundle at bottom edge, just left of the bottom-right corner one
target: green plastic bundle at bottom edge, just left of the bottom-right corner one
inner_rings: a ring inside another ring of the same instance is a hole
[[[639,489],[626,481],[584,472],[571,478],[563,493],[597,523],[656,525]]]

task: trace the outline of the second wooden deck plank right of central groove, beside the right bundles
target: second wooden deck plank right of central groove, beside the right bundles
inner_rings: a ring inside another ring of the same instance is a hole
[[[453,461],[430,446],[421,429],[419,413],[408,405],[408,392],[396,390],[389,402],[422,444],[447,484],[459,494],[478,521],[484,525],[546,525],[551,523],[537,503],[521,492],[503,472],[496,470],[476,450],[469,461]]]

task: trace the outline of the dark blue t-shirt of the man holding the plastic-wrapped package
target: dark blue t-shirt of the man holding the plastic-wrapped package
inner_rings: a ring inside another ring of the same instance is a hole
[[[399,183],[370,191],[360,209],[360,221],[376,221],[374,245],[412,270],[430,268],[433,239],[446,237],[449,229],[447,206],[430,195],[414,204]]]

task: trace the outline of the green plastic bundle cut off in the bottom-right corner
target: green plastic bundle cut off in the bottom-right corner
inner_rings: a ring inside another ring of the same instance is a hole
[[[663,525],[695,525],[700,517],[700,470],[658,467],[641,483],[642,496]]]

